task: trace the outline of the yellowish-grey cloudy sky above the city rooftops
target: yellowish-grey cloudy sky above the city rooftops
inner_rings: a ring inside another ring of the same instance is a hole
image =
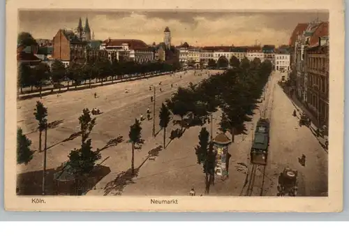
[[[172,44],[252,45],[288,44],[298,23],[327,21],[328,13],[313,12],[200,12],[200,11],[87,11],[21,10],[19,31],[34,38],[53,38],[58,29],[74,29],[79,17],[89,18],[95,39],[134,38],[145,43],[163,41],[163,30],[170,27]]]

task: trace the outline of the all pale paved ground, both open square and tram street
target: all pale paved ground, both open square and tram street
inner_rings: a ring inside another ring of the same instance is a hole
[[[211,73],[217,72],[211,71]],[[57,168],[68,160],[71,149],[79,147],[80,137],[64,140],[79,131],[77,117],[81,115],[82,109],[98,108],[103,114],[97,116],[97,124],[91,133],[93,147],[101,149],[109,140],[119,136],[122,136],[123,140],[117,146],[107,147],[101,152],[100,162],[110,168],[110,173],[101,179],[96,184],[96,188],[89,191],[87,195],[175,196],[188,195],[191,188],[195,188],[197,195],[204,195],[205,175],[202,172],[202,165],[197,164],[194,150],[195,145],[198,145],[198,133],[201,127],[188,128],[181,138],[172,140],[168,147],[160,152],[156,151],[156,147],[163,145],[163,131],[159,131],[158,126],[158,109],[161,103],[166,98],[170,98],[178,86],[199,82],[207,77],[205,73],[198,76],[193,75],[193,71],[189,71],[149,80],[70,91],[59,97],[56,95],[44,97],[43,103],[48,108],[49,122],[57,121],[58,125],[48,130],[47,143],[50,148],[47,150],[47,169]],[[279,72],[272,73],[265,89],[265,101],[259,104],[259,110],[255,110],[253,120],[246,123],[247,134],[237,135],[235,143],[230,145],[229,178],[223,181],[216,177],[215,185],[210,188],[210,196],[245,195],[252,176],[248,154],[253,128],[260,117],[260,111],[264,112],[264,110],[265,116],[271,119],[269,158],[265,170],[258,167],[255,171],[251,195],[276,196],[277,178],[279,172],[285,167],[299,171],[300,196],[327,194],[327,153],[309,128],[299,127],[299,116],[297,118],[292,116],[294,106],[277,84],[280,79]],[[159,82],[162,84],[159,85]],[[128,179],[126,171],[131,167],[131,144],[127,142],[129,126],[133,124],[133,119],[139,118],[141,114],[146,117],[147,108],[152,111],[150,97],[154,95],[154,91],[149,91],[149,85],[156,87],[156,132],[159,133],[156,138],[152,138],[152,120],[142,121],[142,138],[145,143],[142,149],[135,151],[135,168],[140,168],[137,177]],[[162,92],[159,91],[160,87]],[[94,98],[94,92],[97,93],[98,98]],[[18,125],[33,141],[34,149],[38,149],[38,132],[34,131],[37,124],[33,115],[37,100],[38,98],[32,98],[19,101],[17,118]],[[214,133],[218,132],[219,117],[218,111],[214,114]],[[210,130],[208,124],[205,126]],[[170,122],[167,137],[175,128],[178,126]],[[167,139],[167,142],[169,141],[170,139]],[[149,151],[156,156],[149,158]],[[302,154],[307,156],[305,167],[298,162],[298,157]],[[34,159],[28,165],[21,165],[18,172],[42,170],[42,167],[43,153],[36,152]]]

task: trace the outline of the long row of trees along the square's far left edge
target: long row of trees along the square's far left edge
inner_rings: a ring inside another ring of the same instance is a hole
[[[22,93],[24,87],[40,88],[47,81],[53,84],[61,84],[64,80],[73,81],[74,85],[80,85],[82,82],[89,82],[97,79],[103,85],[105,78],[111,77],[112,80],[117,77],[123,78],[124,75],[149,75],[154,73],[164,73],[177,71],[179,64],[165,64],[162,62],[149,62],[147,64],[137,64],[134,61],[113,61],[110,63],[107,59],[101,59],[89,64],[70,64],[68,68],[59,60],[54,60],[52,67],[45,63],[37,66],[20,64],[18,68],[18,89]]]

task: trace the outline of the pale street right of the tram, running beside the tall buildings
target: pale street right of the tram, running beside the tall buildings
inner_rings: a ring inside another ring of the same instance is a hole
[[[310,128],[299,127],[299,114],[292,116],[294,105],[277,84],[280,73],[274,73],[269,82],[268,112],[271,116],[268,164],[255,171],[252,196],[276,196],[279,173],[283,168],[298,170],[298,196],[327,196],[327,152],[322,148]],[[298,158],[306,155],[306,165]],[[250,176],[251,178],[251,176]]]

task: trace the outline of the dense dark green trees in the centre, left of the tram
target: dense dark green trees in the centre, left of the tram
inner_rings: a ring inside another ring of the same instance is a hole
[[[187,122],[190,124],[210,122],[212,114],[219,108],[222,111],[220,129],[223,133],[231,133],[232,141],[235,133],[246,131],[244,122],[251,121],[258,98],[272,73],[272,64],[270,61],[261,62],[258,58],[249,61],[246,57],[241,62],[232,58],[230,64],[233,67],[231,70],[212,75],[187,88],[179,87],[172,98],[166,101],[172,114],[181,119],[181,127],[188,126],[184,122],[186,118],[189,118]],[[208,135],[206,128],[203,128],[199,135],[200,143],[195,147],[198,163],[203,164],[206,173],[207,191],[209,179],[214,177],[215,166]]]

